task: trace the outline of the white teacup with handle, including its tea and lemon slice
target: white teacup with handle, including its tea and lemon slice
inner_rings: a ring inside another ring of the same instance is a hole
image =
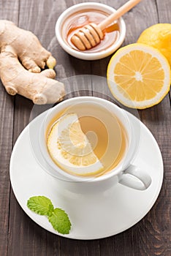
[[[131,165],[136,140],[126,111],[96,97],[66,99],[48,110],[39,135],[50,175],[86,184],[113,177],[114,183],[146,189],[151,177]]]

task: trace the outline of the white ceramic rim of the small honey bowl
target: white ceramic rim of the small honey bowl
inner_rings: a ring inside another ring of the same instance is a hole
[[[98,53],[82,53],[81,51],[70,48],[69,45],[67,45],[66,42],[64,42],[64,39],[61,35],[61,26],[63,25],[64,20],[66,20],[66,18],[69,15],[72,15],[72,13],[74,12],[77,12],[79,10],[91,9],[91,8],[94,8],[96,10],[103,10],[105,12],[108,12],[109,14],[115,12],[115,9],[113,7],[110,7],[106,4],[101,4],[96,2],[87,2],[87,3],[75,4],[72,7],[69,7],[64,12],[62,12],[58,20],[56,21],[56,29],[55,29],[56,38],[58,39],[59,44],[66,51],[66,53],[69,53],[70,55],[76,57],[77,59],[96,60],[96,59],[103,59],[107,56],[110,56],[110,54],[114,53],[115,50],[117,50],[121,46],[126,36],[126,24],[123,18],[119,18],[118,19],[118,24],[120,27],[119,38],[112,46],[110,46],[110,48]]]

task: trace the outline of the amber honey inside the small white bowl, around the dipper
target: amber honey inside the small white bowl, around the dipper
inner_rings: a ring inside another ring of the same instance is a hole
[[[109,13],[103,12],[101,10],[83,10],[79,12],[75,12],[74,14],[70,15],[64,22],[62,26],[62,36],[65,42],[74,50],[78,50],[75,45],[73,45],[71,38],[72,36],[77,33],[83,26],[88,25],[89,23],[96,23],[99,24],[102,20],[107,18]],[[115,21],[112,25],[110,25],[107,29],[104,30],[104,39],[99,42],[94,48],[90,50],[84,50],[84,53],[98,53],[103,50],[107,50],[110,48],[119,37],[119,25]],[[78,50],[79,51],[79,50]]]

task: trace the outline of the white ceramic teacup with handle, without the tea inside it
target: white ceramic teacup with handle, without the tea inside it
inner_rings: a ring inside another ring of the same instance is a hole
[[[104,108],[118,118],[127,134],[127,146],[121,161],[113,168],[113,170],[106,173],[104,172],[100,176],[82,177],[67,173],[65,170],[61,170],[61,168],[53,162],[53,159],[51,159],[47,150],[46,133],[50,122],[58,113],[64,114],[66,109],[69,111],[71,108],[72,111],[73,106],[77,109],[80,105],[91,105],[90,114],[94,116],[96,116],[96,111],[92,106]],[[137,129],[140,129],[140,127]],[[139,135],[137,136],[138,133]],[[64,102],[59,103],[47,111],[47,115],[45,115],[45,118],[42,121],[42,126],[39,128],[39,150],[41,151],[43,159],[41,165],[50,176],[56,178],[56,181],[60,181],[66,189],[69,189],[72,192],[98,192],[117,183],[133,189],[145,190],[151,185],[151,176],[149,176],[148,173],[145,173],[144,170],[141,170],[140,166],[132,165],[140,141],[139,136],[140,131],[135,131],[128,113],[126,113],[125,110],[118,108],[118,106],[112,102],[97,97],[75,97],[66,99]]]

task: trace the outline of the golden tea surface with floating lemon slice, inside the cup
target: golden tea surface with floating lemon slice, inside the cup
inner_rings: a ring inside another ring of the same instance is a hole
[[[81,102],[57,113],[46,137],[53,162],[77,176],[100,176],[113,170],[127,148],[121,121],[93,102]]]

